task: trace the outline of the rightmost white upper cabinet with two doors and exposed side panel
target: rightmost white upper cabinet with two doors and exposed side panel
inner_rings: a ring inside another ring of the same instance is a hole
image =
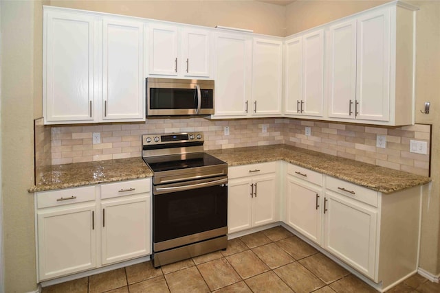
[[[414,123],[414,10],[397,3],[328,27],[329,119]]]

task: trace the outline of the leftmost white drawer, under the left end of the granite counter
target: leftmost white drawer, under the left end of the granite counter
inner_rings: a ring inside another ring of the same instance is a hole
[[[36,194],[36,207],[57,207],[64,204],[88,202],[95,200],[95,186],[59,189],[54,191],[42,191]]]

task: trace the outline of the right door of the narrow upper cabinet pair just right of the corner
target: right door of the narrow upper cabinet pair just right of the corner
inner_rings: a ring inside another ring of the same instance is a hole
[[[324,31],[303,36],[303,104],[307,116],[322,116],[324,101]]]

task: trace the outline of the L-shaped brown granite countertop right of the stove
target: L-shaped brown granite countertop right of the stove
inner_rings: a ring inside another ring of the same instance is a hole
[[[344,159],[290,145],[265,145],[210,150],[207,152],[227,162],[230,167],[283,160],[384,194],[430,182],[430,178],[426,176]]]

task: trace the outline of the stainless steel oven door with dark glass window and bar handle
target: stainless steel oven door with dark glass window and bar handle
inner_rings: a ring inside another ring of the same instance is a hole
[[[159,185],[153,189],[155,252],[226,235],[228,177]]]

